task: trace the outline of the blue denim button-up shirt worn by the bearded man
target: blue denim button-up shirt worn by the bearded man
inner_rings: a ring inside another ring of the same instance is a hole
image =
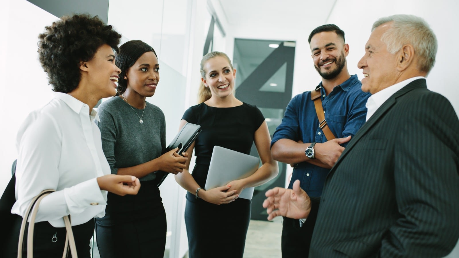
[[[365,104],[370,96],[368,92],[362,91],[362,83],[357,75],[336,86],[328,96],[325,96],[322,82],[319,85],[325,120],[331,132],[336,138],[354,136],[365,123],[367,113]],[[319,128],[319,119],[310,91],[305,91],[291,99],[285,109],[282,123],[273,135],[271,146],[280,139],[302,140],[304,143],[327,141],[322,129]],[[346,145],[347,143],[342,146],[346,147]],[[308,162],[299,163],[293,169],[289,188],[292,188],[295,180],[300,179],[301,188],[309,196],[319,197],[322,195],[325,177],[329,171],[330,169],[320,168]]]

